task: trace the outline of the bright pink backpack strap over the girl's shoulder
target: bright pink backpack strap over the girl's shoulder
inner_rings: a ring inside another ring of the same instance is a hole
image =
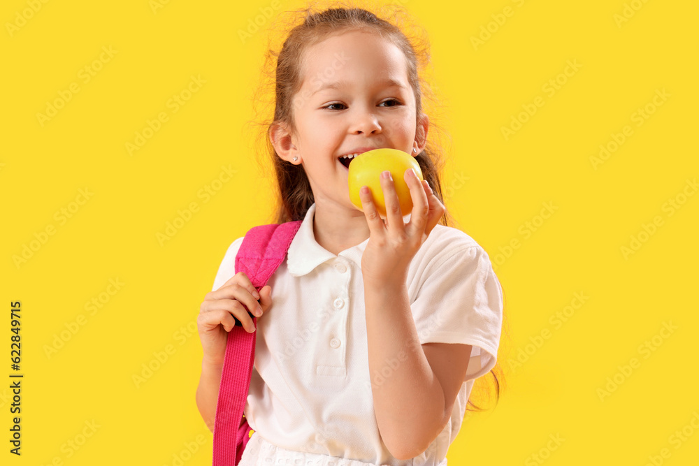
[[[291,240],[301,222],[288,221],[284,224],[250,228],[236,255],[236,273],[245,272],[259,291],[286,259]],[[252,321],[257,327],[257,317],[252,316]],[[226,356],[214,421],[214,466],[238,465],[252,430],[243,417],[243,412],[247,392],[250,390],[257,332],[247,333],[237,323],[226,340]]]

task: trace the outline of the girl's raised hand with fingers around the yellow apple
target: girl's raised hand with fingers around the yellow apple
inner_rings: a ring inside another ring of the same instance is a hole
[[[427,239],[432,228],[447,211],[433,194],[426,180],[420,182],[412,168],[403,173],[410,189],[412,212],[405,224],[393,180],[381,177],[381,189],[386,203],[386,220],[376,210],[371,192],[359,191],[362,210],[369,225],[369,242],[361,256],[361,273],[368,283],[403,284],[410,261]]]

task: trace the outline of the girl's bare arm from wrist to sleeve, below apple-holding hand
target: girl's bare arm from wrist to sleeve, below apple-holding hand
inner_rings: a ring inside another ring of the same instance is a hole
[[[445,362],[434,361],[433,370],[419,342],[405,280],[391,286],[365,280],[364,300],[369,374],[379,432],[398,460],[415,458],[449,421],[471,348],[462,344],[449,345],[448,352],[438,348],[432,354]]]

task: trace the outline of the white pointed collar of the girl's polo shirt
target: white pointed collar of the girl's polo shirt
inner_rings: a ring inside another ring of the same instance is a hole
[[[361,255],[369,238],[363,240],[359,245],[345,249],[336,256],[316,242],[315,235],[313,235],[314,214],[315,203],[312,203],[308,207],[308,212],[306,212],[294,239],[291,240],[291,245],[289,245],[287,252],[287,270],[289,273],[294,277],[300,277],[326,261],[337,259],[338,256],[354,261],[356,265],[361,267]]]

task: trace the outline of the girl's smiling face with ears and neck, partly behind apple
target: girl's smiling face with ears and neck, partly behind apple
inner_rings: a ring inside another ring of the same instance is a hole
[[[415,94],[405,55],[377,34],[350,31],[305,50],[303,84],[293,99],[296,134],[287,161],[298,157],[320,208],[358,209],[349,201],[348,169],[339,157],[380,147],[412,156],[416,141]],[[421,120],[424,136],[427,119]]]

